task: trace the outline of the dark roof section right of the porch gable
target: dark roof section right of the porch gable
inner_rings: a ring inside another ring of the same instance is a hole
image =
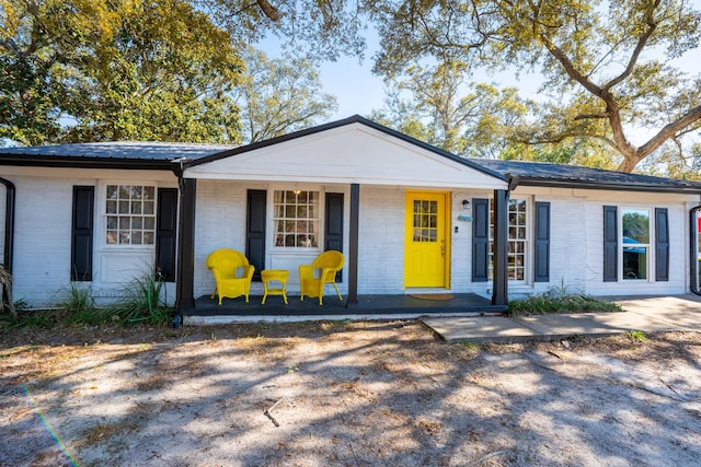
[[[472,159],[524,186],[701,194],[701,183],[543,162]]]

